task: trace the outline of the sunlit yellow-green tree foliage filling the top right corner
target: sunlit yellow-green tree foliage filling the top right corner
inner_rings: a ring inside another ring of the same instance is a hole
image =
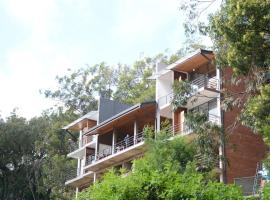
[[[210,36],[220,66],[247,75],[253,67],[270,65],[269,0],[224,1],[210,19]]]

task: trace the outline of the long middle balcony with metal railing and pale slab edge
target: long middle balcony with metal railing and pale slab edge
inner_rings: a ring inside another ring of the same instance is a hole
[[[97,155],[89,155],[86,158],[85,170],[99,171],[117,165],[125,160],[141,155],[145,151],[143,132],[135,137],[126,137],[116,143],[113,147],[108,147],[98,152]]]

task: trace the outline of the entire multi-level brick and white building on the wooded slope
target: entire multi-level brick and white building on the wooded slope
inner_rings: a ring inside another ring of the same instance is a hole
[[[225,130],[225,143],[219,153],[221,159],[220,180],[226,183],[239,183],[248,190],[253,183],[257,163],[265,156],[267,148],[262,138],[248,128],[234,124],[239,109],[221,109],[221,90],[230,88],[237,92],[244,85],[229,84],[232,75],[230,68],[220,70],[214,64],[214,53],[198,50],[171,65],[157,64],[156,72],[150,78],[156,80],[156,100],[134,106],[123,105],[111,100],[100,99],[97,111],[92,111],[72,122],[64,129],[80,131],[77,149],[68,154],[78,159],[77,175],[66,182],[81,190],[89,186],[111,167],[131,168],[132,160],[144,154],[142,130],[152,125],[156,131],[161,123],[171,123],[175,135],[191,135],[192,130],[185,124],[189,112],[203,112],[212,123]],[[188,80],[193,88],[187,104],[173,110],[172,85],[176,80]],[[249,183],[248,183],[249,182]]]

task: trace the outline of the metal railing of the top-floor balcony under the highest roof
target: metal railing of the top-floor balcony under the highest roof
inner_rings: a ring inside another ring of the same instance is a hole
[[[190,84],[192,85],[192,88],[194,90],[193,93],[190,94],[190,96],[196,94],[198,90],[203,87],[213,90],[219,89],[219,79],[217,77],[209,78],[206,75],[199,76],[198,78],[192,80]],[[158,99],[158,103],[162,107],[164,105],[170,104],[172,102],[172,99],[173,99],[173,92],[160,97]]]

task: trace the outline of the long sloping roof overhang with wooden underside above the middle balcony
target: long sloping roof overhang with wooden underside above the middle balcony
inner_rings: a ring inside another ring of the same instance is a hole
[[[86,135],[95,135],[95,134],[105,134],[107,130],[111,130],[116,126],[121,126],[127,123],[130,119],[136,119],[143,116],[155,116],[156,102],[144,102],[137,105],[134,105],[117,115],[107,119],[106,121],[94,126],[89,129],[85,134]]]

